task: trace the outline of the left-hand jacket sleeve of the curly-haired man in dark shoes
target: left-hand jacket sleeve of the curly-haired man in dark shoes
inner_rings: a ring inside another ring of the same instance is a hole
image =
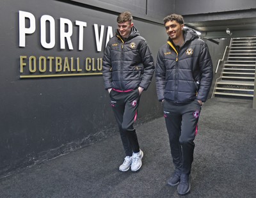
[[[164,99],[164,90],[166,84],[166,68],[162,60],[163,58],[161,57],[161,52],[159,50],[156,61],[156,93],[159,101]]]

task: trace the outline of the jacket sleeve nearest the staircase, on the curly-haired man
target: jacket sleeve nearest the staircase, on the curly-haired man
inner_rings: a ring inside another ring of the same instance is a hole
[[[200,87],[198,89],[198,94],[196,96],[196,99],[202,100],[202,102],[205,102],[207,100],[207,96],[211,89],[212,77],[213,77],[212,60],[211,60],[211,56],[206,43],[202,45],[202,49],[199,57],[199,66],[200,66],[201,79],[200,79]]]

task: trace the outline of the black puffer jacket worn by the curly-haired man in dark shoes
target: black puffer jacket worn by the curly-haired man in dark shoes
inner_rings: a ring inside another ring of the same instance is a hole
[[[195,31],[183,32],[184,44],[179,50],[169,39],[157,55],[157,97],[175,103],[207,100],[212,84],[212,61],[206,43]]]

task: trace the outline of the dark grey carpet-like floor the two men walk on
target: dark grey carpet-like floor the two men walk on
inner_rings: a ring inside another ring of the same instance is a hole
[[[143,166],[120,172],[119,134],[0,179],[0,197],[180,197],[164,118],[137,125]],[[191,192],[186,197],[256,197],[256,110],[252,100],[213,98],[202,107]]]

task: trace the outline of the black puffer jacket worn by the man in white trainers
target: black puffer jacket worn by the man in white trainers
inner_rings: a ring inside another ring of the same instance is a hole
[[[116,30],[103,56],[103,78],[106,89],[147,89],[155,66],[154,59],[145,39],[135,27],[124,40]]]

